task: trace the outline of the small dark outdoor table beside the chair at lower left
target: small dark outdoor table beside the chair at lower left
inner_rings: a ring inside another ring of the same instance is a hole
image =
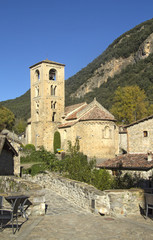
[[[5,197],[6,201],[9,202],[11,204],[11,206],[13,206],[13,203],[16,199],[20,199],[20,206],[19,206],[19,210],[22,214],[22,216],[25,216],[26,219],[28,219],[27,215],[26,215],[26,209],[25,205],[26,202],[28,201],[29,196],[26,195],[17,195],[17,196],[8,196]]]

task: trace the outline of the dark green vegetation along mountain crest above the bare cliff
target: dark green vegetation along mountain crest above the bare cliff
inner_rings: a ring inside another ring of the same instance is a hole
[[[71,99],[69,98],[71,93],[75,92],[80,85],[85,83],[102,64],[105,64],[112,58],[128,58],[131,54],[135,54],[140,45],[151,33],[153,33],[153,19],[143,22],[121,35],[100,56],[89,63],[87,67],[69,78],[66,81],[67,104],[71,104]],[[137,61],[136,58],[135,60]]]

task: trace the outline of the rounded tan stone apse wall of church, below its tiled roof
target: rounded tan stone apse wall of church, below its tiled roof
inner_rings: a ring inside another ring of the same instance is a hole
[[[59,132],[64,151],[68,149],[67,140],[74,145],[76,138],[79,138],[80,151],[89,158],[96,157],[97,162],[119,153],[118,127],[113,121],[81,121],[71,128],[59,129]]]

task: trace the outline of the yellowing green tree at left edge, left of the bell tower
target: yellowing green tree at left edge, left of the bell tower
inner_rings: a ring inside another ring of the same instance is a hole
[[[8,108],[0,106],[0,131],[4,128],[12,130],[14,122],[14,114]]]

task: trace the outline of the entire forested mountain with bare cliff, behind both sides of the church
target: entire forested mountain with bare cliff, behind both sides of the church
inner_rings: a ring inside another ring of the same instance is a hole
[[[96,97],[110,109],[117,87],[127,85],[138,85],[153,100],[153,19],[121,35],[93,62],[66,80],[66,105],[90,102]],[[0,104],[17,118],[30,117],[30,91]]]

